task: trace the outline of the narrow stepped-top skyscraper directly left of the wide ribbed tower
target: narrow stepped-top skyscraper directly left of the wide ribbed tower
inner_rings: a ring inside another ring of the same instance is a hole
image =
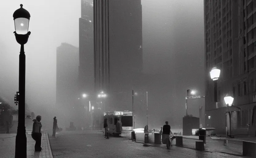
[[[94,91],[93,0],[81,0],[79,18],[79,93]]]

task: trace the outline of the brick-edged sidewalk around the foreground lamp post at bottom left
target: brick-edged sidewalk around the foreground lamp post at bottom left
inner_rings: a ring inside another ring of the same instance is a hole
[[[53,158],[50,142],[47,133],[42,134],[42,151],[35,152],[35,141],[30,134],[27,137],[27,158]],[[14,158],[15,157],[15,139],[16,134],[0,134],[0,157]]]

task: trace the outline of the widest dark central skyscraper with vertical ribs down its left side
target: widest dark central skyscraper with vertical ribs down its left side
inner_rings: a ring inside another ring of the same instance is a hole
[[[143,65],[140,0],[94,0],[94,58],[95,90],[122,94],[112,101],[131,105],[127,93]]]

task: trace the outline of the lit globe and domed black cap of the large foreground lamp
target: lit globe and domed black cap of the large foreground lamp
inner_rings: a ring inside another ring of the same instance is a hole
[[[22,7],[21,4],[20,8],[13,13],[15,31],[18,35],[26,35],[29,27],[30,14]]]

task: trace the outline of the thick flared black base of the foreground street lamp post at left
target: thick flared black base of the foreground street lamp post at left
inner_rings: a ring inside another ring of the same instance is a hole
[[[19,128],[15,140],[15,158],[27,157],[27,137],[26,128]]]

